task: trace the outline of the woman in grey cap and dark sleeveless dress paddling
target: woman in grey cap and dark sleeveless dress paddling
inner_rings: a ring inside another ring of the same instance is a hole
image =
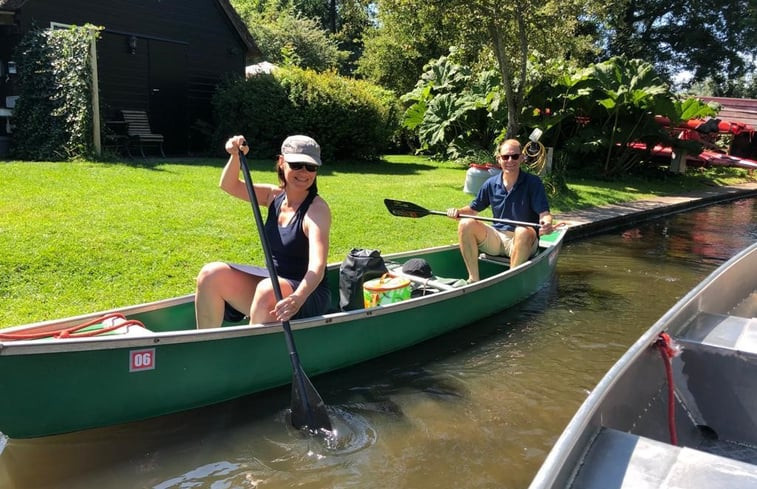
[[[219,186],[250,202],[240,178],[240,149],[249,148],[243,136],[226,142],[229,161]],[[208,263],[197,277],[195,315],[198,328],[221,326],[224,319],[250,324],[288,321],[323,314],[331,305],[326,262],[331,210],[318,195],[316,175],[321,148],[307,136],[290,136],[276,161],[279,185],[254,184],[255,197],[268,208],[264,232],[271,248],[281,288],[276,300],[266,268],[225,262]]]

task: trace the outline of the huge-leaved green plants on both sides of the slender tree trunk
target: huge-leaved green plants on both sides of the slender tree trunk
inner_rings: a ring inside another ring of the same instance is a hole
[[[403,123],[416,132],[422,150],[470,160],[505,135],[505,97],[497,72],[474,76],[453,60],[455,52],[429,63],[415,89],[402,97],[411,104]],[[555,68],[552,71],[560,71]],[[563,174],[586,169],[614,178],[649,159],[631,148],[632,142],[701,151],[701,143],[674,137],[655,116],[669,119],[675,127],[711,115],[715,111],[696,99],[678,100],[650,63],[615,57],[589,68],[566,67],[560,76],[543,78],[526,96],[520,135],[534,128],[544,131],[542,142],[556,148]],[[559,187],[564,176],[555,178]]]

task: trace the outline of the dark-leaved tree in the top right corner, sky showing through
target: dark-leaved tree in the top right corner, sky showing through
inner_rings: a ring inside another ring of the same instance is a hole
[[[689,72],[691,82],[723,85],[754,73],[757,3],[625,0],[612,12],[605,36],[608,55],[647,60],[668,81]]]

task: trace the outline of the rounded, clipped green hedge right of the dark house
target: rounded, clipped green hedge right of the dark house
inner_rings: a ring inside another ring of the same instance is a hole
[[[326,159],[373,158],[399,126],[394,95],[333,72],[278,68],[271,75],[229,80],[213,99],[216,138],[244,134],[253,155],[269,158],[290,134],[307,134]]]

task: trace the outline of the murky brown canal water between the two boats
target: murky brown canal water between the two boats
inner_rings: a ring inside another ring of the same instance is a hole
[[[604,372],[755,240],[757,199],[746,199],[567,243],[554,279],[519,306],[315,378],[337,420],[330,442],[288,428],[280,389],[125,426],[0,437],[0,488],[525,488]]]

